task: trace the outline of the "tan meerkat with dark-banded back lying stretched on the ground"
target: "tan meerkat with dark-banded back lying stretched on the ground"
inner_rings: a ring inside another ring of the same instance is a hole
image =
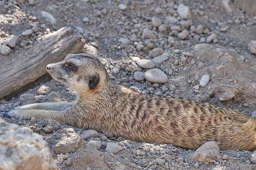
[[[220,149],[256,147],[256,119],[206,102],[135,92],[114,83],[96,56],[69,54],[48,64],[47,71],[73,88],[77,100],[22,105],[6,116],[51,118],[131,140],[191,149],[211,140]]]

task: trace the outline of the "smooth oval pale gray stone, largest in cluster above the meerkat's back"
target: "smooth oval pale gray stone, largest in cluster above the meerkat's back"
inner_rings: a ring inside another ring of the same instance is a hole
[[[158,68],[153,68],[145,72],[145,78],[150,82],[166,83],[168,82],[167,75]]]

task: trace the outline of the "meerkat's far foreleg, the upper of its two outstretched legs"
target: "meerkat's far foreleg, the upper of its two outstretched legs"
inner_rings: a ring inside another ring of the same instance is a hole
[[[33,103],[27,105],[21,105],[15,107],[14,109],[37,109],[37,110],[53,110],[53,111],[63,111],[68,107],[71,107],[74,102],[43,102],[43,103]]]

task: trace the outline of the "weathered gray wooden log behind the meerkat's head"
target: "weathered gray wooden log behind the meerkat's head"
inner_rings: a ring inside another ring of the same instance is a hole
[[[63,27],[42,37],[42,41],[15,55],[0,54],[0,98],[14,92],[46,73],[46,65],[64,59],[68,53],[81,52],[84,40],[72,27]]]

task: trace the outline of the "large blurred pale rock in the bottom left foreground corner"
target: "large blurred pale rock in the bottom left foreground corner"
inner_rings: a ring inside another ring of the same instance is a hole
[[[39,134],[0,118],[0,169],[56,169],[50,149]]]

